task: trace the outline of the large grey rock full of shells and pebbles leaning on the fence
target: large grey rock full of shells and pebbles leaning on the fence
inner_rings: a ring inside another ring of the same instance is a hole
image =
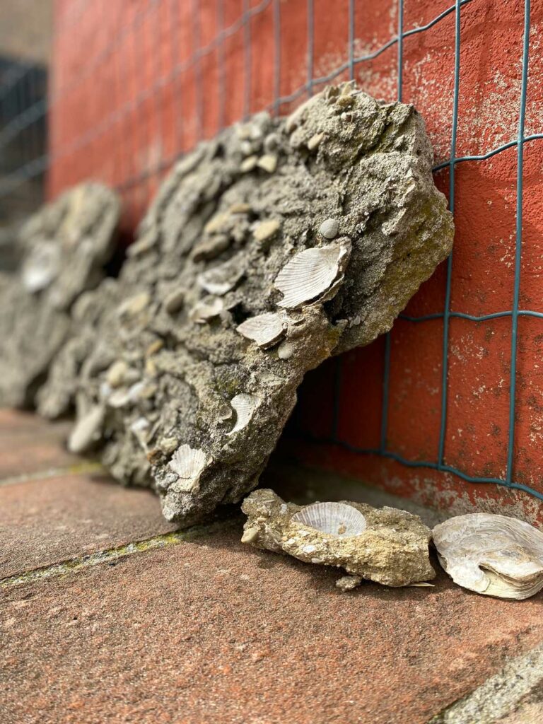
[[[450,252],[431,167],[416,110],[352,84],[199,146],[98,325],[75,447],[101,441],[113,475],[153,484],[172,520],[240,500],[306,371],[387,332]]]

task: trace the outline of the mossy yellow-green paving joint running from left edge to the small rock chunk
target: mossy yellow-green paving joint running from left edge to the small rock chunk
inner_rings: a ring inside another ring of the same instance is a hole
[[[17,573],[14,576],[0,579],[0,589],[12,589],[15,586],[23,584],[31,584],[37,581],[43,581],[47,578],[58,576],[67,576],[71,573],[77,573],[85,568],[94,565],[107,564],[111,565],[115,561],[126,558],[136,553],[144,553],[160,548],[167,548],[180,543],[184,543],[200,536],[214,533],[215,531],[227,529],[230,526],[240,523],[241,516],[236,515],[233,518],[227,518],[213,523],[205,523],[203,525],[192,526],[184,531],[174,531],[173,533],[164,533],[159,536],[153,536],[142,541],[123,544],[107,550],[98,551],[89,555],[84,555],[63,563],[54,563],[52,565],[43,566],[43,568],[34,568],[25,573]]]

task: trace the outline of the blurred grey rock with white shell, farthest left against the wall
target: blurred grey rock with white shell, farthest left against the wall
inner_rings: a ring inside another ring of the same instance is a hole
[[[119,201],[83,184],[44,206],[17,236],[22,261],[0,283],[0,405],[33,405],[49,365],[77,327],[72,308],[98,285],[114,244]]]

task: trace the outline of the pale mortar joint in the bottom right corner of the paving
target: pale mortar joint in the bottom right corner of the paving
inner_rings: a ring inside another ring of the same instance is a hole
[[[432,717],[428,724],[496,724],[515,712],[518,704],[542,683],[543,643],[510,660],[499,673]]]

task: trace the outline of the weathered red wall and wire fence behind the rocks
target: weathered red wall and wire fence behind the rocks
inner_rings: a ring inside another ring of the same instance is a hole
[[[543,0],[56,0],[53,17],[47,98],[42,62],[1,56],[3,220],[92,177],[130,238],[174,160],[248,114],[349,78],[416,105],[455,251],[390,335],[308,375],[284,449],[422,502],[537,510]]]

